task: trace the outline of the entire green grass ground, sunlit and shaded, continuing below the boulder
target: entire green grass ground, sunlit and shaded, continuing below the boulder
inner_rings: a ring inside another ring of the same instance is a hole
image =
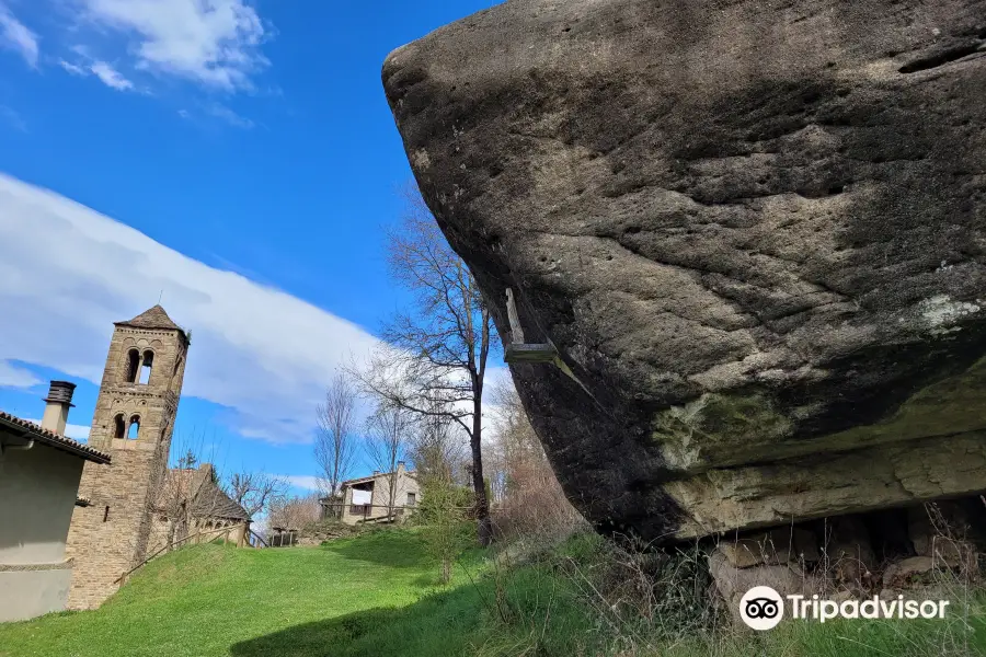
[[[986,655],[982,599],[967,623],[786,622],[752,635],[679,632],[665,615],[615,626],[562,567],[593,577],[601,543],[576,538],[509,568],[473,551],[448,587],[436,586],[438,568],[414,530],[322,548],[198,545],[156,560],[96,611],[0,625],[0,656]]]

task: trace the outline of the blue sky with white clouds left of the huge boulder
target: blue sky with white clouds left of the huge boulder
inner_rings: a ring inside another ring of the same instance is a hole
[[[314,404],[406,302],[393,48],[490,7],[0,0],[0,408],[88,425],[112,322],[193,332],[174,450],[314,474]],[[84,433],[84,426],[74,433]]]

